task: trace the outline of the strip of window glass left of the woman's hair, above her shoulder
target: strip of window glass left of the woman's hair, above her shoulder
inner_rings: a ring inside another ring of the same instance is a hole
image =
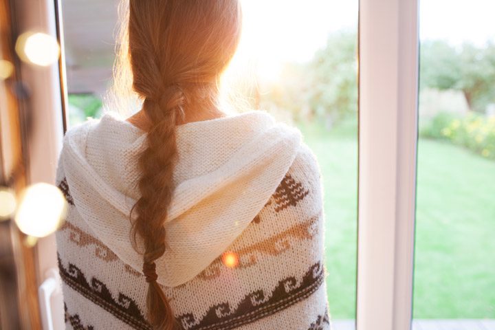
[[[117,4],[62,3],[70,126],[102,115],[102,97],[112,78]]]

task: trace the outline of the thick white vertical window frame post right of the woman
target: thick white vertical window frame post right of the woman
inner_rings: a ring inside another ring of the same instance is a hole
[[[418,0],[360,0],[358,330],[410,329]]]

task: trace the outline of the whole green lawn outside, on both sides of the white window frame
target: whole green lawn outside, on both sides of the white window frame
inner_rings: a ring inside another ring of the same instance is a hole
[[[358,144],[355,120],[300,124],[325,186],[327,288],[333,318],[355,316]],[[495,318],[495,162],[421,139],[415,318]]]

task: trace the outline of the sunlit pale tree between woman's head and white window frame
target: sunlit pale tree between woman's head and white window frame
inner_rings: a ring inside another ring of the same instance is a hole
[[[335,122],[358,109],[355,32],[330,34],[308,63],[286,63],[280,80],[267,87],[262,102],[290,111],[296,119]]]

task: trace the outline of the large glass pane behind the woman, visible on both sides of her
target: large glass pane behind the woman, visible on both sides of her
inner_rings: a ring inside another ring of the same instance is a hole
[[[316,154],[325,189],[329,311],[334,329],[353,329],[358,0],[241,3],[243,36],[225,74],[225,90],[242,107],[264,109],[298,126]],[[66,1],[63,14],[74,125],[102,114],[102,98],[111,83],[117,12],[114,1]]]

